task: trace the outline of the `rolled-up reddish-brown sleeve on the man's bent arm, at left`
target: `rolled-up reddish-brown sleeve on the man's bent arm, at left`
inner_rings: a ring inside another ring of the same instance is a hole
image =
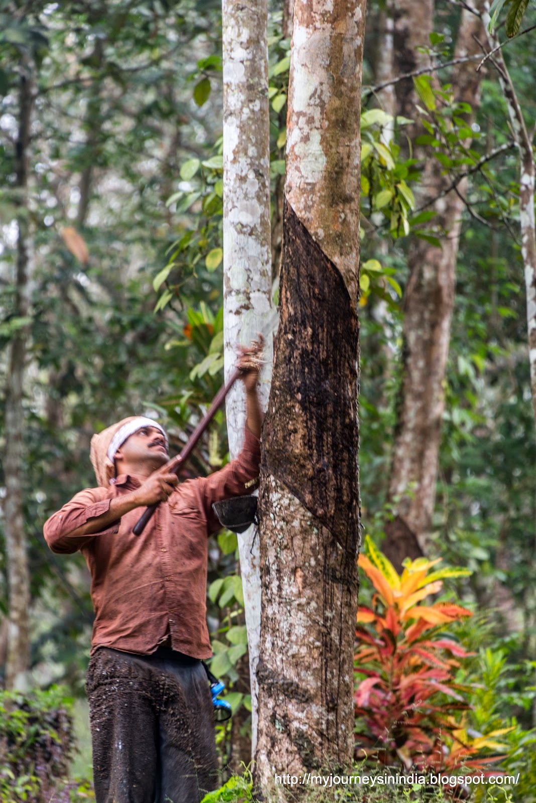
[[[118,532],[119,519],[89,536],[71,536],[71,532],[83,524],[87,524],[89,520],[107,513],[111,501],[112,493],[104,488],[88,488],[73,496],[70,502],[64,504],[61,510],[47,520],[43,528],[45,540],[52,552],[70,555],[72,552],[77,552],[95,536]]]

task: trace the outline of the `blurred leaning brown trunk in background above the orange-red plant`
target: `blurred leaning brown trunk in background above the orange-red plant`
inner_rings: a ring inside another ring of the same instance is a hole
[[[420,10],[416,22],[418,19]],[[463,10],[456,58],[479,51],[473,35],[479,39],[484,35],[481,19]],[[459,65],[454,81],[455,99],[474,108],[481,85],[475,64]],[[451,183],[452,178],[442,175],[441,169],[436,160],[428,158],[420,205],[441,194]],[[437,214],[435,220],[449,233],[441,248],[415,240],[409,251],[411,275],[404,293],[404,380],[389,487],[389,499],[396,504],[397,515],[386,525],[384,541],[384,552],[399,571],[405,557],[416,558],[426,552],[432,525],[465,191],[464,180],[457,190],[430,206]]]

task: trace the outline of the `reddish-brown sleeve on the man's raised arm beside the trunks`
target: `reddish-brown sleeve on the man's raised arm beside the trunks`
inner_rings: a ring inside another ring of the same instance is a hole
[[[261,442],[246,426],[244,443],[238,457],[227,463],[221,471],[215,471],[214,474],[200,480],[209,533],[221,530],[221,524],[212,509],[213,502],[252,493],[258,484],[260,463]]]

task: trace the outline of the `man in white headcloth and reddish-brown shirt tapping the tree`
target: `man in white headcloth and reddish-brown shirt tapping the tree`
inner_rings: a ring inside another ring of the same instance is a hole
[[[97,803],[195,803],[217,781],[213,704],[201,659],[212,503],[253,490],[262,413],[250,351],[245,441],[209,477],[178,484],[162,427],[125,418],[91,439],[99,487],[76,494],[44,527],[53,552],[80,550],[95,622],[87,669]],[[140,537],[132,528],[160,503]]]

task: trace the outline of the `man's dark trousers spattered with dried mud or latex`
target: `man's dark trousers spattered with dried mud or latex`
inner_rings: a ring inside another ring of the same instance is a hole
[[[96,803],[197,803],[217,786],[205,667],[100,647],[87,668]]]

